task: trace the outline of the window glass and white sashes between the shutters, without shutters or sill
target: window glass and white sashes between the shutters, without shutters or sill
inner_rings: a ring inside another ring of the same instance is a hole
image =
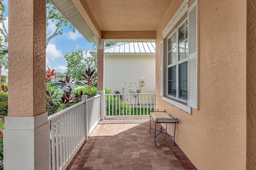
[[[168,38],[168,96],[188,100],[188,20]],[[178,47],[177,45],[178,44]],[[178,56],[178,57],[176,57]],[[177,74],[178,73],[178,74]],[[178,77],[178,79],[176,78]],[[178,87],[178,89],[177,89]],[[177,93],[178,92],[178,93]]]

